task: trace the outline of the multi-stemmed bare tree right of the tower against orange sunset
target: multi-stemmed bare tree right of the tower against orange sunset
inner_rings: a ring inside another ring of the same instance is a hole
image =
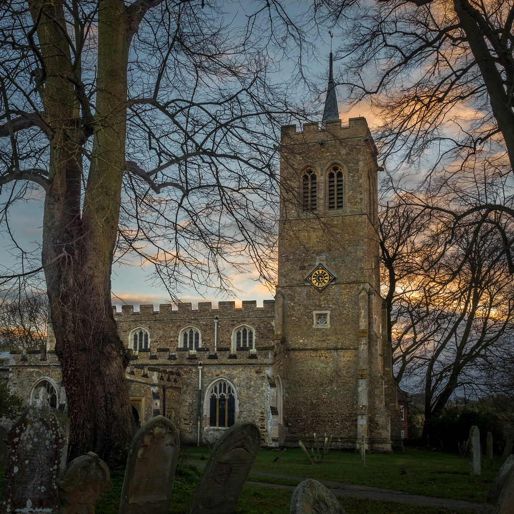
[[[425,397],[424,437],[455,392],[493,391],[491,356],[505,355],[514,333],[511,199],[494,174],[463,182],[396,195],[380,224],[396,379]]]

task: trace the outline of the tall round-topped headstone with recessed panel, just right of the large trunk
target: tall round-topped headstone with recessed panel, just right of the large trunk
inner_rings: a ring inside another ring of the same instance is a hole
[[[167,514],[177,466],[179,437],[164,416],[151,418],[137,431],[128,452],[120,514]]]

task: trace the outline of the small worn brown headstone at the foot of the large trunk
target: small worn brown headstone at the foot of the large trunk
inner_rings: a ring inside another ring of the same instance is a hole
[[[56,480],[59,514],[95,514],[95,505],[113,487],[109,468],[93,452],[72,460]]]

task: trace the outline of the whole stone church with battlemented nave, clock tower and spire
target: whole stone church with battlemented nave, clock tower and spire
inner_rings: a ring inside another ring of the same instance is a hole
[[[366,120],[339,119],[331,55],[321,123],[282,128],[275,299],[115,311],[134,351],[126,380],[138,422],[167,415],[186,444],[251,420],[268,446],[325,432],[340,448],[359,448],[362,436],[371,451],[401,445],[380,297],[377,171]],[[3,372],[28,402],[44,385],[64,408],[48,332],[45,352],[11,353]]]

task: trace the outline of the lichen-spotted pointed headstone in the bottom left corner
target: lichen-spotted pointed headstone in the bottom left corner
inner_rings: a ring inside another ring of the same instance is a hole
[[[57,509],[56,479],[66,465],[69,421],[48,405],[44,388],[7,433],[2,512]]]

